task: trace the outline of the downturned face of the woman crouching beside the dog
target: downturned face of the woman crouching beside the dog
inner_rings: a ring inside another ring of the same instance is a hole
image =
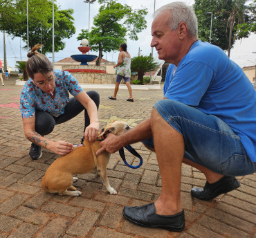
[[[53,71],[46,73],[46,75],[35,73],[33,82],[45,93],[49,95],[53,94],[55,89],[55,75]]]

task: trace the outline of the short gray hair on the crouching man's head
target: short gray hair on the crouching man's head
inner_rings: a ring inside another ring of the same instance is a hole
[[[197,19],[192,7],[181,1],[175,1],[156,10],[155,17],[166,11],[170,12],[169,26],[171,30],[176,30],[181,22],[185,22],[188,26],[188,33],[197,37]]]

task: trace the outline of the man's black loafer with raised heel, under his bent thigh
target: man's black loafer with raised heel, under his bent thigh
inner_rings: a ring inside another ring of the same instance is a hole
[[[220,194],[225,194],[240,187],[237,178],[233,176],[223,176],[215,183],[206,182],[203,188],[193,187],[190,191],[192,196],[201,200],[215,199]]]

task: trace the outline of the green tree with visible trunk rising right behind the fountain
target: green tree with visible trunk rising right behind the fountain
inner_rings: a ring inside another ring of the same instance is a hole
[[[114,0],[99,0],[99,13],[94,17],[90,31],[90,47],[99,51],[96,65],[100,65],[103,52],[117,51],[122,42],[129,39],[138,40],[137,33],[147,27],[145,15],[147,9],[133,10],[127,4]],[[82,30],[78,40],[88,39],[88,30]]]

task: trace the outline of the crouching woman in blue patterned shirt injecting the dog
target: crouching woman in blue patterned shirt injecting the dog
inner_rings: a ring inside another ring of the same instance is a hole
[[[29,156],[33,160],[42,156],[41,147],[55,154],[65,155],[73,144],[45,138],[55,125],[61,124],[84,111],[83,140],[93,143],[99,130],[98,107],[100,96],[95,91],[85,93],[73,75],[55,69],[45,55],[37,52],[37,44],[28,53],[27,72],[30,79],[21,91],[21,116],[24,134],[32,142]],[[73,95],[69,98],[68,93]],[[67,131],[71,133],[72,131]],[[73,131],[74,134],[77,131]]]

